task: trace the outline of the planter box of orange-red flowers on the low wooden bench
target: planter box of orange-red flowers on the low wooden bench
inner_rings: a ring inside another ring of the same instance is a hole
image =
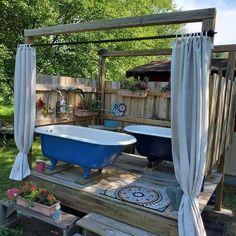
[[[39,188],[31,182],[25,182],[16,195],[16,203],[32,210],[51,216],[59,201],[45,188]]]

